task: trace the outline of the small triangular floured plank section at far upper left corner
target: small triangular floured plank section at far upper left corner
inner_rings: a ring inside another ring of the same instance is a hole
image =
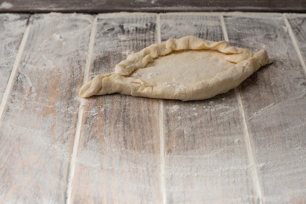
[[[0,14],[0,101],[14,66],[29,16],[27,14]]]

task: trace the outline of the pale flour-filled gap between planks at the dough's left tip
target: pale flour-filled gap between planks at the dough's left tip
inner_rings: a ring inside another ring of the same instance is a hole
[[[85,67],[84,79],[83,79],[84,83],[87,82],[88,76],[89,76],[90,62],[91,62],[91,57],[92,57],[92,53],[94,49],[94,41],[95,41],[95,35],[96,35],[96,29],[97,29],[97,19],[98,17],[95,16],[91,24],[88,54],[86,58],[86,67]],[[71,159],[70,159],[69,174],[68,174],[66,204],[71,203],[72,184],[74,180],[76,157],[78,153],[79,141],[80,141],[80,136],[81,136],[81,128],[82,128],[82,122],[83,122],[83,113],[84,113],[84,107],[85,107],[86,101],[87,99],[80,98],[80,105],[79,105],[79,111],[78,111],[78,122],[77,122],[76,132],[74,136],[74,143],[73,143],[73,149],[72,149],[72,154],[71,154]]]

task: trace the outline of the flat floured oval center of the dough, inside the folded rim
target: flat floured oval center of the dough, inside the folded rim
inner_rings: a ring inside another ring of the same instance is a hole
[[[217,73],[236,65],[226,61],[224,56],[214,50],[176,51],[154,59],[146,68],[135,70],[131,77],[140,78],[152,85],[166,82],[188,86],[211,79]]]

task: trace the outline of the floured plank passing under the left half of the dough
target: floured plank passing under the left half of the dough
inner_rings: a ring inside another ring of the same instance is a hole
[[[155,43],[155,21],[99,15],[89,78]],[[158,100],[111,94],[89,98],[84,109],[71,203],[161,203]]]

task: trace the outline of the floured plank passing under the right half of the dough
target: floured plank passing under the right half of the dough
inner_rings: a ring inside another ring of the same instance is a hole
[[[221,41],[220,16],[161,15],[161,40],[195,35]],[[252,203],[257,189],[235,91],[202,101],[164,101],[168,204]]]

